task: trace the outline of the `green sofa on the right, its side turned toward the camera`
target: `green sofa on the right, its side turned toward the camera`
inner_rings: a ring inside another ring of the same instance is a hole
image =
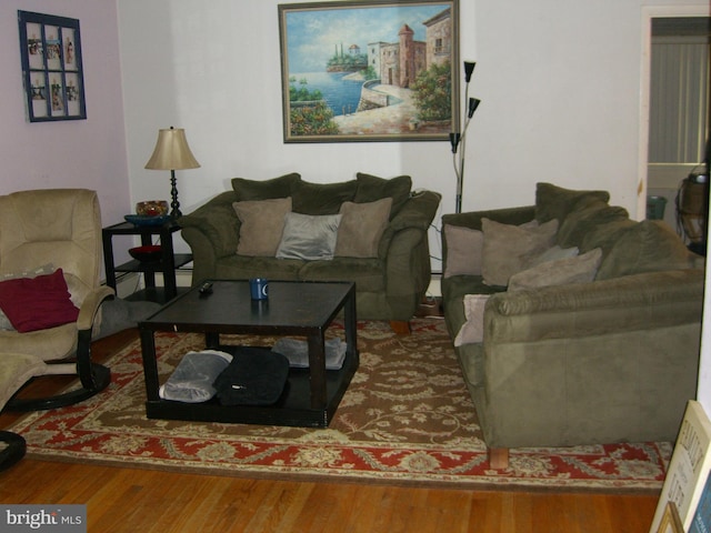
[[[538,183],[535,205],[442,217],[444,316],[492,467],[514,447],[674,441],[695,398],[703,258],[608,201]]]

